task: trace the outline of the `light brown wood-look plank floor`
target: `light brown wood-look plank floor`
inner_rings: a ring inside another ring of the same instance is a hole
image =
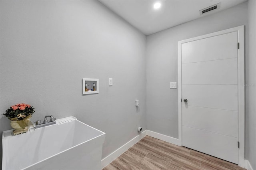
[[[108,164],[103,170],[245,170],[240,166],[176,146],[150,136]]]

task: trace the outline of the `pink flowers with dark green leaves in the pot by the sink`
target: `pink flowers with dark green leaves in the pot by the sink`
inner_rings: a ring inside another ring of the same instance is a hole
[[[21,103],[11,106],[5,111],[4,116],[6,116],[11,121],[20,121],[24,119],[29,119],[31,115],[35,112],[34,107]]]

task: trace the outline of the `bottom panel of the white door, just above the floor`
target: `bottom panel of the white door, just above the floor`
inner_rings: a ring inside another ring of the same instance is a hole
[[[196,128],[185,126],[182,128],[184,146],[194,150],[203,150],[206,154],[230,162],[238,162],[237,138]]]

